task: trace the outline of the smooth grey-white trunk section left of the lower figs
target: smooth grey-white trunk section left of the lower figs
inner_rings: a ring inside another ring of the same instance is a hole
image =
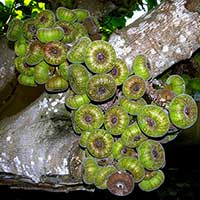
[[[84,189],[84,154],[64,98],[43,94],[23,112],[0,122],[0,184],[18,185],[18,180],[24,182],[22,188]]]

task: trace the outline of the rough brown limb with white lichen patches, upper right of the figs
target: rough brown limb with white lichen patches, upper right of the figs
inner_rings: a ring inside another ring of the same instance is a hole
[[[190,12],[197,3],[186,3],[186,0],[166,1],[111,36],[110,43],[129,68],[137,54],[145,54],[155,77],[174,63],[190,58],[199,48],[200,18],[197,12]]]

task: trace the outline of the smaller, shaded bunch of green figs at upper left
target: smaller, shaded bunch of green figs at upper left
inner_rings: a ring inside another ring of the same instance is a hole
[[[32,87],[45,84],[48,92],[65,91],[69,87],[67,60],[79,59],[81,63],[83,55],[76,53],[76,49],[83,44],[85,50],[91,42],[89,38],[100,38],[98,32],[98,21],[84,9],[59,7],[56,14],[43,10],[33,18],[12,19],[7,38],[15,42],[18,82]]]

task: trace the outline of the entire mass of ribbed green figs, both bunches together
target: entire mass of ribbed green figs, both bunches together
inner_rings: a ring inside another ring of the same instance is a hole
[[[162,145],[196,122],[197,105],[179,75],[154,80],[144,55],[129,69],[109,42],[91,40],[84,26],[88,17],[86,10],[59,7],[55,15],[45,10],[12,20],[7,38],[15,41],[18,81],[66,92],[85,152],[85,184],[117,196],[130,194],[135,185],[155,190],[165,179]]]

